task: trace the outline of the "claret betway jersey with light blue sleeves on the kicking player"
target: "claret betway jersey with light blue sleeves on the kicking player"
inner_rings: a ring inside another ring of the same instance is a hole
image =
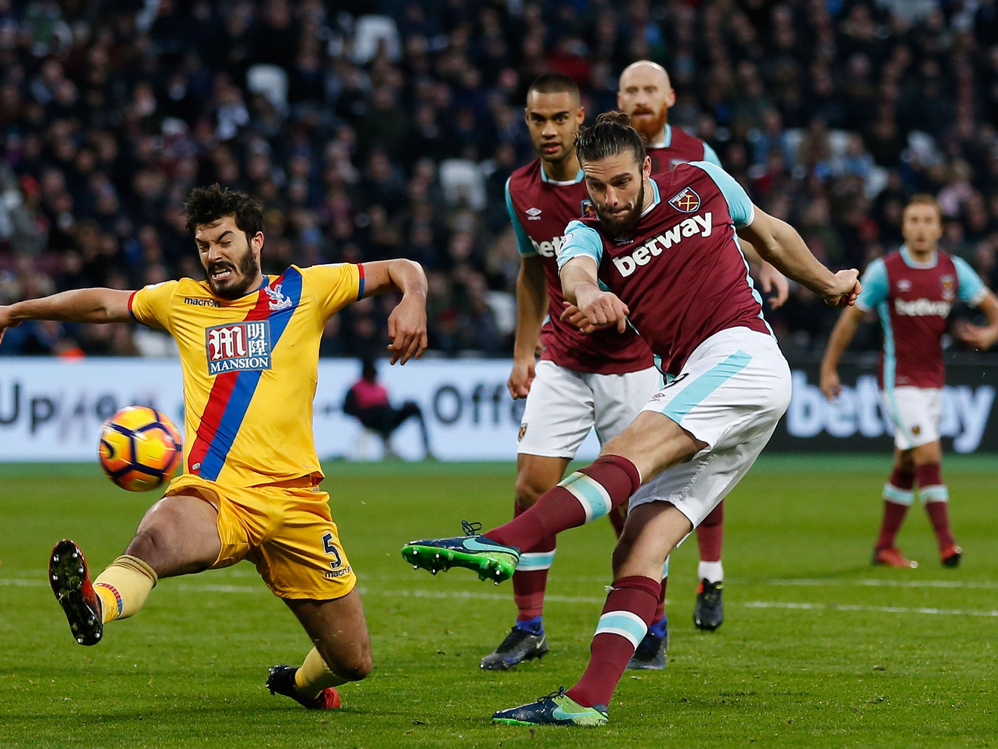
[[[715,164],[680,164],[651,178],[652,205],[634,236],[610,239],[595,218],[566,227],[559,268],[596,261],[600,282],[630,309],[631,324],[676,375],[704,341],[729,328],[771,334],[735,230],[754,207]]]

